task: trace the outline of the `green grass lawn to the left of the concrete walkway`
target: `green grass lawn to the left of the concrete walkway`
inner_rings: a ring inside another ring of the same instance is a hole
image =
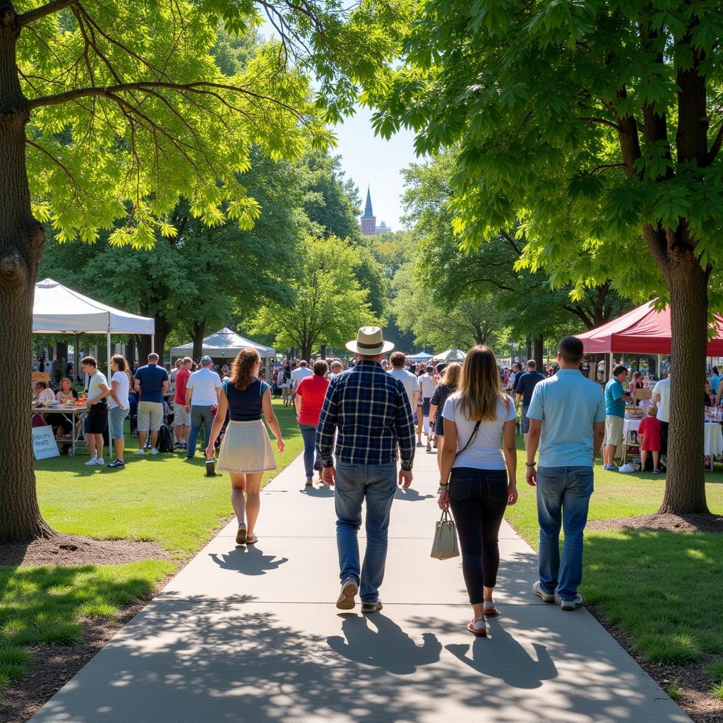
[[[286,449],[264,483],[304,446],[293,408],[280,401],[274,408]],[[121,469],[86,467],[83,453],[36,462],[40,509],[59,532],[151,540],[171,559],[74,568],[0,566],[0,691],[22,677],[32,659],[30,646],[74,643],[86,620],[113,619],[121,607],[152,592],[231,516],[228,475],[205,476],[201,455],[191,462],[180,451],[137,458],[137,440],[127,437],[126,445]]]

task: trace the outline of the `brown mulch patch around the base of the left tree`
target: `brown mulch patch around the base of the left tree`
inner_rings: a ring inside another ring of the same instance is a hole
[[[124,565],[127,562],[167,557],[168,552],[155,542],[96,540],[77,535],[59,534],[51,539],[0,545],[0,565],[22,567]]]

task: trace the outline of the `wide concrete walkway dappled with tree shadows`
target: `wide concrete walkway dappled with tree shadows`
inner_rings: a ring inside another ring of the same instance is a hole
[[[506,523],[502,617],[471,636],[459,559],[429,557],[435,455],[418,450],[414,475],[382,612],[335,608],[333,492],[306,492],[298,459],[262,493],[259,544],[226,527],[33,722],[690,721],[586,610],[531,594],[536,557]]]

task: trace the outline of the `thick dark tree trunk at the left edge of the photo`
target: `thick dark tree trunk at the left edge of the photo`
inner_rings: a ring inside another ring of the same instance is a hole
[[[0,0],[0,543],[54,535],[35,494],[30,436],[30,359],[35,275],[45,232],[30,209],[25,124],[30,117],[15,64],[17,17]]]

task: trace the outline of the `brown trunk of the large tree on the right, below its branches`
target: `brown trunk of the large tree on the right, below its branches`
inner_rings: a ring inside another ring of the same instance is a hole
[[[688,249],[670,254],[666,277],[672,355],[667,474],[659,513],[706,513],[702,390],[706,373],[708,279]]]

